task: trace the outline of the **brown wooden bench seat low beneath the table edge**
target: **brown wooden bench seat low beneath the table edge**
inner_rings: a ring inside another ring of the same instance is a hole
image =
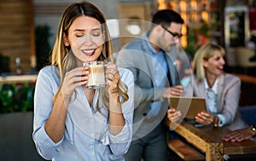
[[[168,147],[183,160],[206,160],[206,158],[193,147],[190,147],[181,140],[173,140],[168,142]]]

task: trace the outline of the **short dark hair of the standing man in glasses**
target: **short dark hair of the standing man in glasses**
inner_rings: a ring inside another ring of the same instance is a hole
[[[180,14],[177,14],[177,12],[171,9],[158,10],[156,13],[154,13],[152,18],[152,23],[154,25],[163,25],[168,27],[172,22],[183,24],[184,20]]]

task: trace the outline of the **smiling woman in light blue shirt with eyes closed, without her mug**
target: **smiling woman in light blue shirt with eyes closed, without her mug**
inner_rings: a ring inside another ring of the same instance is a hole
[[[133,76],[113,64],[112,44],[102,12],[82,2],[61,18],[52,65],[38,74],[33,141],[53,160],[124,160],[131,144]],[[84,62],[108,61],[106,88],[86,89]]]

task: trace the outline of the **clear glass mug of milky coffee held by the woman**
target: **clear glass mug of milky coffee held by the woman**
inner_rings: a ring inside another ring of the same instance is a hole
[[[89,66],[87,89],[101,89],[106,86],[105,63],[104,61],[85,62],[84,66]]]

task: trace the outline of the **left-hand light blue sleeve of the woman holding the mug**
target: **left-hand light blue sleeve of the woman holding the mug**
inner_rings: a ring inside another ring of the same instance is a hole
[[[49,68],[48,68],[49,69]],[[52,111],[54,89],[58,89],[57,84],[53,81],[52,76],[49,76],[47,69],[41,70],[38,73],[38,80],[34,95],[34,122],[32,139],[35,142],[38,153],[46,159],[54,158],[59,149],[61,142],[53,142],[47,135],[44,124],[49,118]]]

